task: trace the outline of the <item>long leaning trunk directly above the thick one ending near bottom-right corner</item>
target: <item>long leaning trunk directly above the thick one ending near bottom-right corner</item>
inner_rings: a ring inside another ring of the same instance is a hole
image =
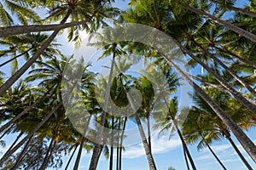
[[[230,91],[230,93],[234,96],[234,98],[236,98],[242,105],[245,105],[250,111],[253,112],[254,115],[256,115],[256,105],[253,105],[251,102],[249,102],[247,99],[245,99],[240,93],[236,92],[236,90],[234,88],[232,88],[230,86],[230,84],[228,84],[227,82],[224,81],[224,79],[220,76],[218,76],[218,74],[216,74],[214,71],[212,71],[211,68],[209,68],[204,62],[201,61],[201,59],[198,59],[197,57],[195,57],[194,54],[192,54],[187,48],[184,48],[179,42],[177,42],[177,40],[175,40],[174,38],[170,37],[172,39],[173,42],[175,42],[177,44],[177,46],[179,48],[181,48],[185,53],[189,54],[189,56],[192,59],[195,59],[201,66],[203,66],[213,77],[216,78],[216,80],[218,80],[218,82],[227,90]]]

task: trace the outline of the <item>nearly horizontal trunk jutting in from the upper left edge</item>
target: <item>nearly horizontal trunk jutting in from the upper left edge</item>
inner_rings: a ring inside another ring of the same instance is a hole
[[[37,31],[56,31],[61,30],[68,27],[83,25],[88,22],[90,19],[82,20],[79,22],[71,22],[71,23],[61,23],[61,24],[53,24],[53,25],[33,25],[33,26],[7,26],[0,27],[0,37],[9,37],[19,34],[26,34],[30,32]]]

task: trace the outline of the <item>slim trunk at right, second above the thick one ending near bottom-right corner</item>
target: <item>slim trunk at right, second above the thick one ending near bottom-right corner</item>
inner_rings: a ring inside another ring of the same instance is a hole
[[[247,90],[248,90],[251,94],[253,94],[253,96],[256,96],[256,92],[253,90],[253,88],[251,88],[249,85],[247,85],[247,83],[244,82],[244,81],[241,79],[241,77],[238,77],[238,76],[236,75],[236,73],[235,73],[234,71],[232,71],[229,67],[227,67],[226,65],[224,65],[224,63],[223,63],[221,60],[219,60],[219,59],[218,59],[217,57],[215,57],[213,54],[209,53],[209,52],[207,51],[207,49],[206,49],[206,48],[203,48],[200,43],[198,43],[198,42],[195,41],[195,39],[192,39],[191,41],[194,42],[195,45],[198,46],[199,48],[201,48],[205,53],[207,53],[208,55],[210,55],[210,57],[211,57],[212,59],[216,60],[216,61],[218,62],[218,64],[221,65],[221,66],[225,69],[225,71],[228,71],[232,77],[236,78],[236,80],[237,80],[238,82],[240,82],[241,85],[243,85],[245,88],[247,88]]]

